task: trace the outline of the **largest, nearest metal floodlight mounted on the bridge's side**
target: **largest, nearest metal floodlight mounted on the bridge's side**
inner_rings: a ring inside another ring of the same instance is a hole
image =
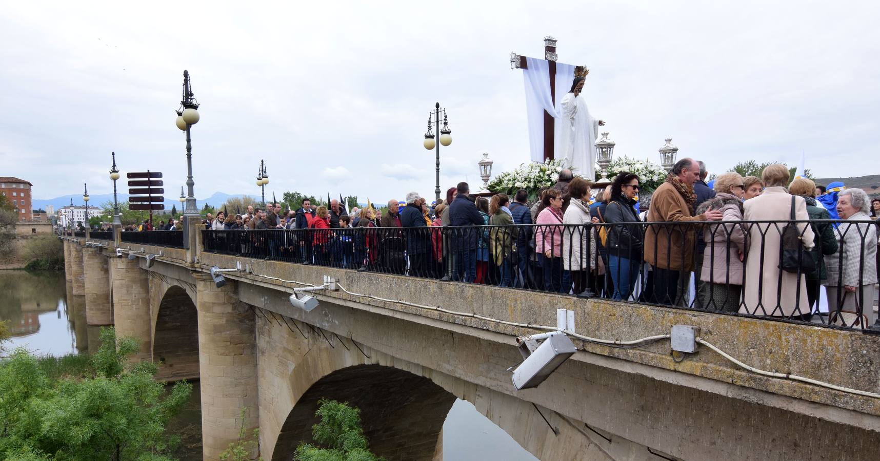
[[[511,376],[517,391],[538,387],[562,362],[575,354],[575,345],[565,333],[558,331],[521,336],[517,338],[517,344],[525,359]]]

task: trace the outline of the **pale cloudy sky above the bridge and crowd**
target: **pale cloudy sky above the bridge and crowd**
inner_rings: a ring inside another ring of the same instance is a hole
[[[428,7],[430,6],[430,7]],[[186,180],[174,127],[182,70],[202,103],[195,190],[432,197],[422,147],[436,101],[453,142],[441,187],[528,160],[522,72],[511,51],[585,64],[590,112],[617,156],[739,160],[819,177],[880,170],[876,2],[5,2],[0,9],[0,175],[35,198],[112,191],[122,172]],[[172,192],[173,194],[173,192]],[[176,196],[177,194],[173,194]]]

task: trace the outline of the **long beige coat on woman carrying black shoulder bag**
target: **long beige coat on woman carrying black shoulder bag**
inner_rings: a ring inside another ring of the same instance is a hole
[[[744,208],[745,221],[788,220],[791,217],[791,194],[785,187],[767,187],[764,194],[745,201]],[[795,198],[795,218],[810,219],[803,197]],[[779,268],[781,234],[785,223],[744,225],[748,230],[746,241],[749,251],[745,260],[745,303],[739,312],[774,317],[809,313],[805,277]],[[797,228],[801,232],[803,247],[812,248],[814,235],[810,225],[800,223]]]

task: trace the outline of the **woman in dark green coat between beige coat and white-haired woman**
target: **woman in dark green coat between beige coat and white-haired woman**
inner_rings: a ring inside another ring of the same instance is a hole
[[[803,177],[796,178],[788,186],[788,192],[803,197],[807,202],[810,221],[829,220],[831,216],[828,215],[828,210],[816,201],[814,195],[816,189],[816,183]],[[810,251],[813,260],[816,261],[816,269],[807,274],[807,299],[810,301],[810,309],[813,309],[819,296],[819,282],[827,277],[825,260],[829,255],[837,252],[837,237],[834,235],[831,223],[810,223],[810,227],[816,235],[813,249]]]

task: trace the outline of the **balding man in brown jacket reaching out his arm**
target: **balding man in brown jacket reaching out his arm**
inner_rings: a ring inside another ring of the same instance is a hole
[[[697,200],[693,183],[697,179],[700,179],[700,165],[693,158],[682,158],[651,196],[648,221],[655,224],[649,224],[645,231],[644,248],[645,261],[654,270],[652,303],[676,304],[678,296],[686,295],[690,281],[682,274],[693,271],[699,227],[692,223],[722,219],[721,211],[716,209],[693,216]]]

